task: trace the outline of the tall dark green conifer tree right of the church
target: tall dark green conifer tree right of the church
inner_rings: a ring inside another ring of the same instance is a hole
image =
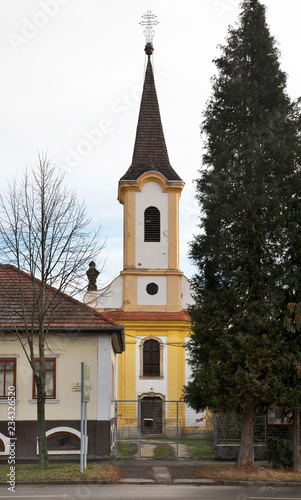
[[[255,409],[271,404],[281,378],[279,370],[279,380],[274,374],[291,270],[284,262],[288,213],[300,180],[296,108],[265,7],[258,0],[241,7],[238,26],[229,29],[215,60],[202,124],[201,232],[190,247],[197,266],[192,378],[185,399],[198,410],[242,413],[238,465],[244,466],[254,460]]]

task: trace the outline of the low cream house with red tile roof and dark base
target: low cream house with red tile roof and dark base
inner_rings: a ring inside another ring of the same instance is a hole
[[[12,265],[0,265],[0,461],[4,462],[12,429],[10,396],[16,402],[16,457],[37,459],[38,454],[36,388],[18,338],[25,339],[24,310],[29,328],[37,329],[35,318],[30,320],[33,285],[39,289],[39,280]],[[109,456],[117,354],[125,349],[123,326],[52,287],[46,287],[46,295],[59,299],[49,321],[45,352],[49,454],[68,458],[80,451],[80,379],[81,362],[85,361],[90,365],[91,383],[88,458]],[[38,345],[35,352],[38,366]]]

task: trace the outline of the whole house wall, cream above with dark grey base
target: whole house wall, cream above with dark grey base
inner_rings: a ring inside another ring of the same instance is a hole
[[[56,357],[57,360],[57,397],[46,401],[46,430],[68,428],[71,433],[80,430],[81,362],[85,361],[90,365],[92,386],[91,399],[87,403],[88,457],[109,456],[111,378],[116,366],[116,354],[111,345],[111,336],[78,333],[64,336],[49,335],[47,344],[46,356]],[[37,459],[37,405],[32,399],[32,371],[20,342],[14,335],[0,336],[0,356],[5,355],[17,357],[16,457]],[[0,400],[0,439],[6,441],[7,437],[8,402]],[[0,461],[7,460],[7,451],[0,453]],[[65,452],[64,456],[69,454],[70,452]],[[64,456],[59,455],[60,458]]]

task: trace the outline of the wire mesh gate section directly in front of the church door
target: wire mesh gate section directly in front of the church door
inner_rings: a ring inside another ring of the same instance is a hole
[[[196,418],[184,401],[144,397],[112,405],[115,457],[191,458],[195,440],[200,437],[206,442],[204,453],[213,456],[210,418]]]

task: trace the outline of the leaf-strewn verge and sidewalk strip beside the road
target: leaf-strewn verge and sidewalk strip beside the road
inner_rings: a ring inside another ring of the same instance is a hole
[[[92,469],[93,465],[97,464],[107,466],[109,474],[103,477],[97,474],[92,475],[92,477],[87,477],[84,474],[79,475],[76,473],[75,476],[69,478],[59,477],[57,475],[56,477],[44,477],[41,479],[39,477],[35,477],[34,480],[27,480],[25,476],[22,480],[17,480],[17,484],[186,484],[213,487],[219,487],[221,485],[256,485],[271,489],[276,486],[301,488],[300,473],[294,476],[292,476],[292,474],[294,474],[292,472],[285,472],[285,474],[281,472],[281,475],[275,475],[272,469],[268,469],[267,471],[265,467],[260,467],[261,465],[266,464],[266,462],[257,462],[255,464],[255,475],[252,475],[254,472],[252,468],[247,468],[243,473],[241,473],[234,467],[234,462],[217,462],[211,459],[105,459],[90,462]],[[258,467],[256,467],[256,465]],[[6,483],[6,480],[0,481],[1,485]]]

